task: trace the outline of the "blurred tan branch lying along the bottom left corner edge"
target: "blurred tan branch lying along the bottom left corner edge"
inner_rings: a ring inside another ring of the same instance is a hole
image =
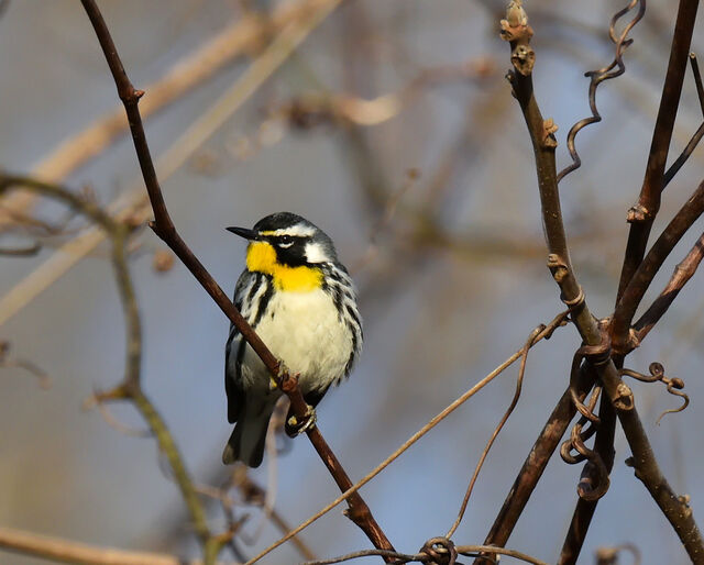
[[[131,552],[0,527],[0,547],[73,565],[200,565],[164,553]]]

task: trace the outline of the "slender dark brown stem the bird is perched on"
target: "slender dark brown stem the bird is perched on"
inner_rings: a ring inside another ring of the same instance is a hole
[[[112,42],[108,26],[95,1],[81,0],[81,3],[96,31],[98,41],[100,42],[100,46],[102,47],[108,66],[110,67],[110,71],[112,73],[112,77],[118,88],[118,95],[120,96],[128,114],[134,148],[142,169],[142,176],[144,177],[150,202],[154,211],[152,229],[164,241],[164,243],[172,248],[172,251],[211,296],[213,301],[224,312],[228,319],[238,328],[244,340],[260,356],[272,376],[279,381],[282,390],[286,392],[290,399],[294,413],[302,420],[308,407],[302,398],[300,389],[298,388],[297,380],[288,376],[286,372],[282,372],[283,367],[279,366],[276,357],[266,347],[264,342],[258,337],[252,326],[246,322],[227,295],[222,291],[220,286],[215,281],[212,276],[176,232],[176,228],[170,220],[166,203],[164,202],[164,197],[162,196],[162,189],[156,178],[156,171],[154,170],[154,164],[146,142],[146,135],[144,133],[144,128],[142,126],[142,119],[138,104],[139,99],[144,92],[135,90],[130,82],[114,43]],[[314,447],[330,470],[338,486],[343,491],[352,487],[352,481],[318,429],[312,426],[307,433],[310,442],[314,444]],[[394,549],[380,525],[374,520],[369,507],[358,492],[354,492],[348,498],[348,505],[350,507],[350,518],[364,531],[364,533],[366,533],[375,547],[382,550]]]

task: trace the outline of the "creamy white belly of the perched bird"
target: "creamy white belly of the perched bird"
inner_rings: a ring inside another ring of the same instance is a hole
[[[275,292],[256,333],[292,374],[300,375],[304,394],[327,388],[344,376],[352,335],[340,322],[332,298],[322,290]],[[268,383],[268,373],[249,345],[242,376],[258,380],[260,386],[263,379]]]

